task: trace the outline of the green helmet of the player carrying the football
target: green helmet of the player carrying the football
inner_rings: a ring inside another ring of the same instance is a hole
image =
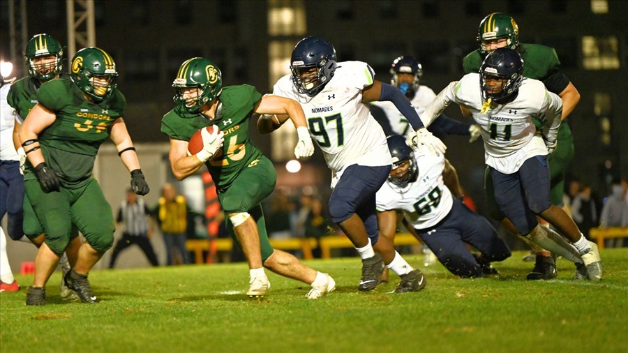
[[[181,64],[177,78],[172,82],[177,91],[173,100],[179,114],[197,113],[203,105],[209,104],[223,90],[223,74],[211,60],[192,58]],[[184,98],[184,89],[196,88],[197,96]]]

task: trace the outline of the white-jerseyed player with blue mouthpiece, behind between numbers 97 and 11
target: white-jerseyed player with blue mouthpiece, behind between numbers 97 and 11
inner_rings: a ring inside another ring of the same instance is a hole
[[[414,57],[405,55],[396,58],[391,65],[390,75],[390,84],[405,94],[419,116],[436,98],[436,93],[430,87],[420,84],[423,66]],[[407,136],[408,133],[412,133],[408,119],[405,119],[391,102],[371,103],[371,114],[387,136],[392,134]],[[474,142],[480,136],[477,124],[451,119],[444,114],[441,114],[428,130],[439,138],[444,135],[469,136],[469,142]]]

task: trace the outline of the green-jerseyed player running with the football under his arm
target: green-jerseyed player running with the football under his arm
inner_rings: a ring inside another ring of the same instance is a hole
[[[289,253],[274,250],[268,240],[261,202],[274,190],[273,163],[262,154],[248,132],[253,114],[288,114],[297,128],[297,158],[314,153],[301,105],[278,96],[263,96],[248,84],[223,87],[216,64],[204,58],[185,61],[174,80],[174,109],[161,121],[161,131],[170,137],[170,167],[182,180],[207,166],[218,200],[227,219],[227,231],[248,262],[250,282],[246,294],[267,294],[270,283],[264,267],[312,286],[306,294],[317,299],[336,288],[326,273],[301,264]],[[206,126],[214,125],[212,133]],[[203,148],[188,152],[188,141],[202,130]],[[220,129],[220,132],[218,132]]]

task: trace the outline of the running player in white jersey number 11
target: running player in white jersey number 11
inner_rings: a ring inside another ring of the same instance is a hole
[[[482,129],[495,199],[518,234],[576,263],[576,278],[600,280],[604,268],[597,246],[550,200],[547,155],[556,148],[560,97],[547,91],[543,82],[523,78],[521,55],[504,47],[487,55],[480,73],[465,75],[438,94],[421,117],[426,126],[452,101]],[[540,135],[532,116],[544,120]],[[565,236],[577,253],[553,230],[541,227],[536,215]]]

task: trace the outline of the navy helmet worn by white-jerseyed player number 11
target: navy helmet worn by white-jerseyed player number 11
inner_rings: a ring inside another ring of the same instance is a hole
[[[500,89],[490,87],[486,79],[501,80]],[[482,98],[500,100],[516,93],[523,82],[523,59],[513,49],[502,47],[490,52],[480,68]]]

